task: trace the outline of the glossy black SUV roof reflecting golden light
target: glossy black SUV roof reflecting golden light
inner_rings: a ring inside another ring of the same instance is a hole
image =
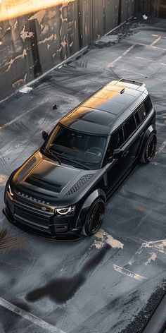
[[[113,81],[70,111],[60,123],[84,133],[108,134],[115,120],[136,99],[139,104],[139,97],[145,92],[146,87],[141,83],[130,80]]]

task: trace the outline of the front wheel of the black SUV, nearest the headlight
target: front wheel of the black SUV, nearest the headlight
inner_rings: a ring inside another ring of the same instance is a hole
[[[82,234],[84,236],[92,236],[100,229],[103,222],[105,212],[105,202],[102,198],[96,199],[87,213]]]

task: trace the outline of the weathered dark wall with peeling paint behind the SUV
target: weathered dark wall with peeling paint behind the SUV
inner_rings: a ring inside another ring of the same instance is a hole
[[[10,1],[24,6],[30,0]],[[125,21],[134,14],[135,4],[136,0],[63,1],[1,20],[0,99]]]

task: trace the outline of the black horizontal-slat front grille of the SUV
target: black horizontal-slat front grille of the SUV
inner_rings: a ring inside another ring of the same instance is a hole
[[[52,216],[49,212],[43,212],[41,207],[34,207],[20,201],[13,201],[15,220],[32,226],[35,229],[49,230],[49,221]]]

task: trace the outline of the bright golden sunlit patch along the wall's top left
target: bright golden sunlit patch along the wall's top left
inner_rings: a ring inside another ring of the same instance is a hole
[[[75,0],[0,0],[0,21],[17,18],[52,6],[63,6]]]

